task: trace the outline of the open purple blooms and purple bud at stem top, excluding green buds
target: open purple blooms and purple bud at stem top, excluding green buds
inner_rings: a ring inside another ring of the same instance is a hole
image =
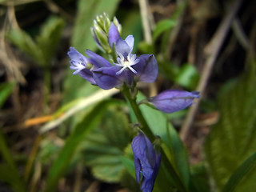
[[[129,35],[123,40],[114,24],[111,24],[110,31],[114,35],[109,34],[109,42],[115,45],[117,62],[111,64],[90,50],[86,50],[87,58],[70,47],[70,69],[75,70],[74,74],[79,74],[103,90],[120,88],[124,83],[132,86],[136,82],[154,82],[158,76],[158,63],[154,55],[142,54],[137,58],[136,54],[132,54],[134,37]]]

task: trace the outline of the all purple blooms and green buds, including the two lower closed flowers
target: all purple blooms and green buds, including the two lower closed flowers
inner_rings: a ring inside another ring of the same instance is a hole
[[[114,87],[122,90],[124,86],[134,89],[137,82],[156,80],[158,62],[154,55],[142,54],[137,57],[133,53],[134,37],[128,35],[125,39],[121,38],[121,26],[116,18],[110,22],[106,14],[98,16],[91,30],[98,47],[112,56],[112,59],[109,62],[90,50],[86,50],[87,56],[84,56],[70,47],[67,54],[71,59],[70,69],[74,70],[73,74],[80,75],[103,90]],[[166,90],[146,99],[146,103],[165,113],[174,113],[192,105],[194,98],[199,98],[199,92]],[[151,192],[160,167],[161,154],[154,150],[154,146],[142,132],[134,138],[131,146],[137,182],[141,182],[143,192]]]

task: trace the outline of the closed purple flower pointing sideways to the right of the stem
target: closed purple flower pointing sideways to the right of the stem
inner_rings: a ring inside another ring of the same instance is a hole
[[[188,92],[186,90],[165,90],[153,98],[149,98],[158,110],[165,113],[174,113],[191,106],[194,98],[199,98],[198,91]]]

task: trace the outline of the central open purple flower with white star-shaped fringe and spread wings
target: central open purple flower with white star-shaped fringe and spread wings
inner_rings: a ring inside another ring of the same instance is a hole
[[[94,70],[94,80],[103,90],[122,86],[131,86],[134,82],[154,82],[158,76],[158,62],[153,54],[136,57],[132,54],[134,37],[129,35],[125,40],[118,38],[115,43],[118,63],[114,66]]]

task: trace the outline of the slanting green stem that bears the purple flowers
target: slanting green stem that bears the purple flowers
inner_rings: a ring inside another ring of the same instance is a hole
[[[144,134],[146,134],[146,136],[150,139],[150,142],[153,143],[155,140],[155,136],[153,132],[150,130],[150,126],[146,122],[146,119],[144,118],[142,111],[138,107],[138,104],[136,102],[136,96],[131,93],[131,90],[127,86],[124,86],[122,93],[126,96],[126,99],[130,103],[130,106],[134,111],[134,114],[138,119],[138,123],[140,124]],[[181,181],[178,174],[176,173],[174,166],[172,166],[172,164],[168,160],[164,150],[162,150],[162,164],[164,166],[164,172],[166,176],[171,177],[171,179],[175,182],[176,187],[180,192],[186,192],[187,191],[186,187],[184,186],[183,182]]]

